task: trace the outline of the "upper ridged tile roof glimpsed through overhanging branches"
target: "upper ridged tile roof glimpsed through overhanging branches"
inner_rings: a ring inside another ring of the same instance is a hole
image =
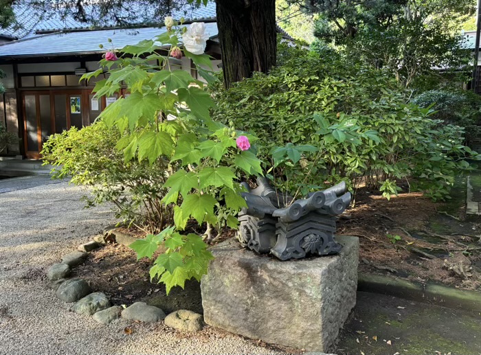
[[[38,14],[30,6],[30,0],[21,0],[21,2],[14,5],[14,13],[16,15],[16,22],[10,27],[0,29],[0,36],[6,36],[8,38],[21,39],[27,36],[34,36],[35,34],[42,34],[45,32],[56,32],[68,30],[80,30],[91,29],[93,23],[82,23],[74,19],[73,16],[66,16],[63,18],[57,12],[45,14]],[[153,8],[146,6],[140,6],[139,10],[135,11],[139,21],[137,25],[147,23],[148,25],[159,24],[163,22],[163,19],[156,19],[154,16]],[[95,11],[93,8],[87,9],[87,12]],[[186,21],[200,21],[206,19],[214,19],[216,16],[215,3],[210,2],[207,6],[192,7],[186,5],[181,10],[173,11],[171,14],[175,19],[184,17]],[[107,21],[102,23],[102,28],[115,27],[116,23]],[[97,26],[98,27],[98,26]]]

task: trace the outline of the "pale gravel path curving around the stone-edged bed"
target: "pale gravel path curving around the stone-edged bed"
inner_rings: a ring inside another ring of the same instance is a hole
[[[3,193],[2,183],[9,184]],[[45,271],[113,215],[108,207],[83,209],[83,192],[65,182],[35,185],[0,181],[0,355],[282,354],[212,328],[187,336],[162,322],[105,326],[70,312],[45,286]]]

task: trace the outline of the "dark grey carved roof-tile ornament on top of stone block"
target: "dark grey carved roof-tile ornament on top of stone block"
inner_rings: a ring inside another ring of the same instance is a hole
[[[258,178],[257,184],[251,190],[242,183],[247,208],[238,216],[240,244],[280,260],[339,253],[342,246],[334,239],[335,216],[344,212],[351,199],[344,181],[295,201],[273,190],[266,178]]]

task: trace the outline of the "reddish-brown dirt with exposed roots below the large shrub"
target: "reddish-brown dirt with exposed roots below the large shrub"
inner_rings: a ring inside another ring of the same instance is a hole
[[[464,203],[456,203],[417,192],[387,201],[360,190],[337,234],[359,237],[359,271],[479,290],[480,223],[463,220]]]

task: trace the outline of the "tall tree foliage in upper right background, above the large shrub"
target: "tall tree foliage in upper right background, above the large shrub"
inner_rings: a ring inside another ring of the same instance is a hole
[[[476,5],[471,0],[311,3],[321,14],[318,38],[334,41],[350,58],[388,69],[405,87],[434,87],[439,69],[457,71],[471,60],[460,31]]]

